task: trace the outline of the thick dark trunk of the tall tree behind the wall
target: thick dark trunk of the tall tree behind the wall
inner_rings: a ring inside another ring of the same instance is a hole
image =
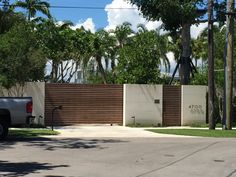
[[[181,31],[181,39],[182,39],[182,53],[181,53],[181,63],[180,63],[180,83],[181,85],[187,85],[190,81],[190,24],[186,23],[182,26]]]

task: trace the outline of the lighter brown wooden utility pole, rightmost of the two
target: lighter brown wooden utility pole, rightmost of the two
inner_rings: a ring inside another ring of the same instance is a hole
[[[232,129],[232,103],[233,103],[233,50],[234,50],[234,0],[227,1],[226,40],[227,53],[225,61],[225,120],[226,128]]]

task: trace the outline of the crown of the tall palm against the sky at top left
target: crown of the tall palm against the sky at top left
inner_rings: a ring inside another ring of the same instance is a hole
[[[35,17],[37,11],[43,13],[48,18],[51,18],[51,14],[49,12],[50,4],[45,1],[41,1],[41,0],[17,1],[15,2],[14,6],[21,7],[27,10],[28,21],[30,21],[32,17]]]

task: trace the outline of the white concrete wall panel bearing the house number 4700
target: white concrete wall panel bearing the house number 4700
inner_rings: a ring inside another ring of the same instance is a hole
[[[181,125],[206,123],[206,86],[182,86]]]

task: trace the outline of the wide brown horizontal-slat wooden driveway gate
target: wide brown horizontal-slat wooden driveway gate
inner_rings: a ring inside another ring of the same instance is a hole
[[[45,85],[45,124],[55,125],[123,123],[122,85]]]

